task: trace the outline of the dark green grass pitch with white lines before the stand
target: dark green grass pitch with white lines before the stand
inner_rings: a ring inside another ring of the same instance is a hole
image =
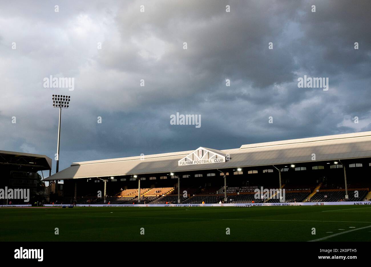
[[[0,241],[370,241],[371,206],[0,208],[0,225]]]

